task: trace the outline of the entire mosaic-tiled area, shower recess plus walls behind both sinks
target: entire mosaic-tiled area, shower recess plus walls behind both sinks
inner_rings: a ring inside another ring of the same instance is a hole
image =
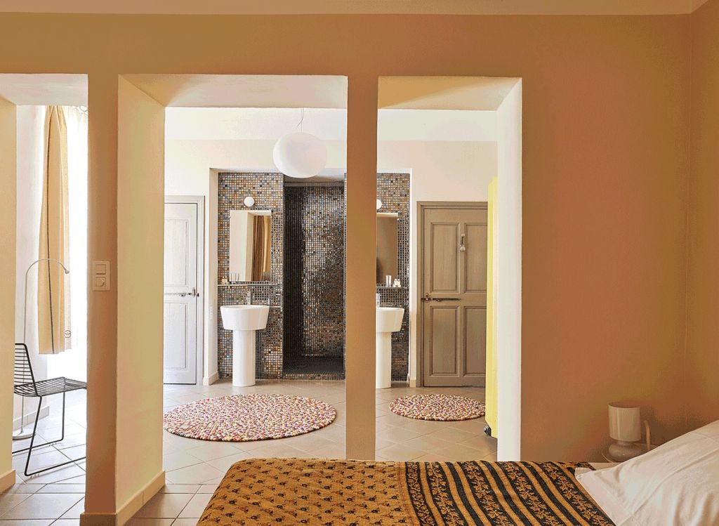
[[[257,378],[344,378],[344,237],[346,184],[285,185],[281,173],[219,173],[218,188],[218,371],[232,377],[232,332],[222,328],[219,307],[255,303],[270,309],[257,331]],[[392,379],[405,381],[409,358],[409,193],[406,173],[377,174],[382,212],[398,214],[400,289],[377,286],[383,304],[404,307],[402,328],[392,335]],[[267,283],[221,283],[229,272],[229,211],[272,210],[271,275]],[[293,220],[290,221],[290,218]],[[372,341],[374,338],[372,338]]]

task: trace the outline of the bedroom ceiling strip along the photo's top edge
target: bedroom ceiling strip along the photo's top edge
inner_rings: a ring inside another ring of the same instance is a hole
[[[124,14],[684,14],[707,0],[3,0],[0,12]]]

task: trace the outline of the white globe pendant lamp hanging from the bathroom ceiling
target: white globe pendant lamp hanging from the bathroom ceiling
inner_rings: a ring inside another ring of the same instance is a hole
[[[305,132],[288,133],[275,143],[275,165],[285,176],[316,176],[327,163],[327,148],[319,137]]]

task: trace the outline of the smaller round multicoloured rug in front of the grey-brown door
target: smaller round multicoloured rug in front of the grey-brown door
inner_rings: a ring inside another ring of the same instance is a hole
[[[417,420],[470,420],[485,414],[485,404],[465,396],[413,394],[395,398],[390,411]]]

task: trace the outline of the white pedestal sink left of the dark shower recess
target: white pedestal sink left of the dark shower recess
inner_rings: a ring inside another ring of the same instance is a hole
[[[255,331],[267,327],[267,305],[223,305],[222,326],[232,331],[232,385],[255,385]]]

